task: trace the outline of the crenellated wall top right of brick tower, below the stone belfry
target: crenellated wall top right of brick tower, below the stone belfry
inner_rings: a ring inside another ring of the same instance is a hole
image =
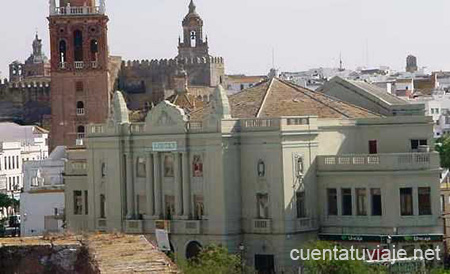
[[[223,64],[222,57],[202,57],[202,58],[174,58],[161,60],[133,60],[122,61],[122,68],[148,67],[148,68],[163,68],[163,67],[178,67],[179,65],[198,65],[198,64]]]

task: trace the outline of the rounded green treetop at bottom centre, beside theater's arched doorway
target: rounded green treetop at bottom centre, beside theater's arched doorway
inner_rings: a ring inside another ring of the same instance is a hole
[[[242,261],[239,255],[230,254],[225,247],[210,245],[191,260],[178,260],[185,274],[235,274],[241,273]]]

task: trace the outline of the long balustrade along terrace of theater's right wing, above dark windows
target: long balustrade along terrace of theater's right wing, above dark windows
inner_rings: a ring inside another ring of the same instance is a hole
[[[319,171],[427,170],[439,165],[437,152],[318,156]]]

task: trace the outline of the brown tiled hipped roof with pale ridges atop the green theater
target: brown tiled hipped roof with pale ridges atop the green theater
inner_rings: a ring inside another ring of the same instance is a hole
[[[273,78],[231,95],[233,118],[314,115],[319,118],[378,117],[334,97]]]

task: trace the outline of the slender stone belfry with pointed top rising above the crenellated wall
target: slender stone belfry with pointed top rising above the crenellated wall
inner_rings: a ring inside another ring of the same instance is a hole
[[[178,43],[178,58],[207,57],[208,39],[203,39],[203,20],[196,11],[194,0],[183,19],[183,41]]]

